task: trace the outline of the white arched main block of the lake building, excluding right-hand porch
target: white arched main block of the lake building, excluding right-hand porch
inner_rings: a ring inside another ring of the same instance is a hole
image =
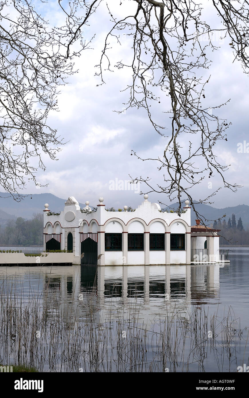
[[[145,198],[135,211],[118,212],[106,211],[100,199],[96,211],[91,210],[88,202],[82,211],[76,199],[69,197],[60,215],[45,214],[45,235],[50,231],[60,236],[62,249],[71,248],[73,238],[73,252],[79,262],[84,258],[85,262],[95,263],[99,256],[100,265],[189,263],[188,205],[178,216],[161,212],[159,206]],[[94,255],[90,256],[90,251]]]

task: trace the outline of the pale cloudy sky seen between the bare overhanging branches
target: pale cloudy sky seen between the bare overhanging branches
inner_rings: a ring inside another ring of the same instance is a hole
[[[119,6],[113,1],[113,10],[116,16],[122,15],[124,8],[130,7],[132,2],[125,2]],[[59,14],[56,2],[44,4],[43,10],[51,23],[59,23]],[[122,9],[122,7],[124,7]],[[101,12],[100,12],[101,11]],[[205,15],[205,13],[203,14]],[[210,9],[207,9],[207,18],[210,18]],[[103,6],[94,18],[92,25],[85,29],[86,37],[96,31],[92,42],[92,49],[82,53],[76,60],[77,74],[69,79],[69,84],[61,88],[58,98],[59,111],[51,113],[49,123],[56,128],[59,135],[69,140],[59,152],[59,160],[51,161],[44,158],[47,169],[38,172],[37,181],[49,184],[39,190],[34,185],[27,185],[27,193],[50,192],[61,198],[75,196],[80,202],[90,201],[96,205],[100,196],[104,197],[106,206],[123,207],[131,205],[136,207],[143,200],[139,193],[127,190],[111,190],[110,180],[128,180],[132,177],[150,177],[154,185],[161,181],[155,162],[141,162],[131,156],[131,149],[141,157],[157,157],[163,154],[166,139],[160,137],[152,128],[145,111],[135,108],[126,114],[118,115],[115,110],[122,110],[123,103],[127,101],[127,94],[120,92],[130,83],[131,71],[118,70],[106,72],[106,84],[96,86],[100,81],[94,76],[94,66],[99,63],[101,50],[104,44],[105,33],[110,26],[110,17]],[[216,43],[217,44],[217,43]],[[129,60],[132,56],[129,39],[125,38],[120,45],[113,45],[111,57]],[[238,153],[237,144],[248,140],[248,115],[249,115],[249,80],[248,76],[238,62],[233,62],[233,55],[229,41],[220,43],[220,50],[212,54],[212,65],[206,71],[211,75],[208,87],[205,90],[205,107],[212,107],[224,103],[229,98],[231,101],[219,109],[219,115],[232,125],[227,130],[228,141],[216,145],[216,154],[224,164],[231,164],[225,173],[227,181],[243,185],[237,193],[222,189],[214,197],[214,207],[227,207],[239,204],[249,205],[249,154]],[[111,54],[111,53],[110,53]],[[155,102],[155,114],[158,121],[169,125],[169,116],[163,111],[167,104]],[[195,139],[191,135],[189,139]],[[203,199],[210,194],[208,182],[193,188],[192,197]],[[212,178],[213,189],[220,187],[220,179]],[[146,191],[143,185],[142,191]],[[149,200],[169,203],[163,194],[150,194]]]

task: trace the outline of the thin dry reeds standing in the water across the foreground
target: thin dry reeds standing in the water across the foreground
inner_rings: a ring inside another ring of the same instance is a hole
[[[71,302],[25,286],[18,275],[0,286],[0,363],[51,372],[236,371],[248,362],[247,339],[230,307],[222,317],[204,305],[166,305],[166,315],[139,320],[139,300],[124,313],[115,298],[101,307],[94,289]],[[210,369],[212,368],[212,369]]]

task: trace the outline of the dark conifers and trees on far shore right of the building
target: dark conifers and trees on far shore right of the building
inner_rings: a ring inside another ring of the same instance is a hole
[[[249,230],[244,230],[243,222],[239,217],[236,222],[235,215],[229,217],[228,221],[221,219],[214,222],[214,228],[220,229],[220,246],[249,245]]]

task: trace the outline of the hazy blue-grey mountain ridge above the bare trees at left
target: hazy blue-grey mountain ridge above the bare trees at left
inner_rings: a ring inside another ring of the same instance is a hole
[[[8,196],[10,196],[8,193],[0,192],[0,209],[3,209],[3,213],[10,213],[9,219],[14,215],[17,215],[17,217],[24,217],[25,219],[31,219],[33,213],[42,213],[45,203],[49,204],[49,210],[59,212],[64,208],[65,201],[67,200],[58,198],[52,193],[24,195],[24,199],[20,202],[17,202],[13,200],[12,197]],[[80,207],[85,207],[82,203],[79,203],[79,205]],[[14,216],[14,218],[16,218],[16,216]]]

